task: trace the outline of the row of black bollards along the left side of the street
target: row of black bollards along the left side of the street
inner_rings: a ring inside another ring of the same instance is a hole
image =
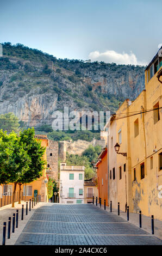
[[[29,200],[29,211],[31,211],[31,203],[32,203],[32,208],[33,205],[39,203],[38,196],[32,198]],[[21,209],[21,220],[23,221],[23,215],[24,215],[24,205],[22,204],[22,209]],[[26,215],[28,215],[28,202],[26,202]],[[16,218],[15,218],[16,217]],[[16,225],[15,225],[16,221]],[[2,240],[2,245],[5,245],[5,236],[6,236],[6,222],[3,223],[3,240]],[[16,215],[13,214],[13,225],[12,225],[12,233],[15,233],[15,227],[18,228],[18,210],[16,210]],[[8,236],[7,238],[10,239],[10,234],[11,234],[11,217],[9,217],[8,221]]]

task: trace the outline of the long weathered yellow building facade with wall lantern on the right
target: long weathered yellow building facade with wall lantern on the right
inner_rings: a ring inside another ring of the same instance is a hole
[[[161,49],[162,52],[162,49]],[[108,204],[162,220],[162,58],[145,70],[145,90],[125,100],[108,130]],[[160,80],[161,79],[161,80]],[[119,143],[119,153],[114,146]]]

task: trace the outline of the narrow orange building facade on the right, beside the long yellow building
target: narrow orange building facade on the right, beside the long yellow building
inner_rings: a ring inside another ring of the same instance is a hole
[[[98,181],[98,197],[100,197],[101,204],[108,205],[108,149],[104,148],[98,156],[97,167],[97,181]]]

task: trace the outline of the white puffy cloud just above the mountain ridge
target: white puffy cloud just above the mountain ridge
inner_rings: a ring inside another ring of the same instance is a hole
[[[133,52],[125,53],[118,53],[113,50],[108,50],[105,52],[91,52],[89,54],[89,59],[91,59],[91,62],[95,62],[98,60],[98,62],[106,62],[106,63],[116,63],[116,64],[132,64],[132,65],[147,65],[146,62],[138,62],[135,54]]]

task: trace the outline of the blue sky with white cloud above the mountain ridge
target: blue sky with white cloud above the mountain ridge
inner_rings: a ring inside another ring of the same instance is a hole
[[[57,58],[147,64],[162,43],[161,0],[0,0],[0,42]]]

